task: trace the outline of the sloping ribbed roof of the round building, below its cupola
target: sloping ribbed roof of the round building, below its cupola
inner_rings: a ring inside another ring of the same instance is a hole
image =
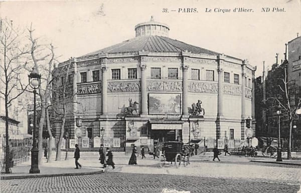
[[[193,46],[178,40],[174,40],[164,36],[138,36],[129,40],[125,40],[119,44],[97,50],[85,54],[83,56],[89,56],[94,54],[104,53],[122,53],[122,52],[138,52],[138,51],[149,51],[149,52],[178,52],[189,51],[194,54],[208,54],[217,55],[219,53],[210,51],[198,46]]]

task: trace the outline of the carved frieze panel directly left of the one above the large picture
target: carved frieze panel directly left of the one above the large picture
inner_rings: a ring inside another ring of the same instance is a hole
[[[108,92],[140,91],[140,81],[108,82]]]

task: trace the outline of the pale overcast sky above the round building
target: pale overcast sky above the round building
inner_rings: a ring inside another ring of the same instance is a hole
[[[52,41],[60,61],[105,48],[135,36],[134,26],[166,23],[169,37],[224,53],[257,66],[271,66],[275,54],[284,58],[285,43],[301,35],[301,0],[281,1],[55,1],[1,2],[1,17],[14,25],[36,29],[35,36]],[[163,9],[169,13],[163,13]],[[197,13],[183,13],[196,8]],[[212,9],[206,13],[205,9]],[[231,13],[214,12],[230,9]],[[235,8],[252,9],[233,13]],[[262,12],[270,8],[270,12]],[[284,8],[285,12],[272,12]],[[179,13],[179,9],[182,9]],[[172,12],[172,10],[176,10]],[[269,67],[270,68],[270,67]]]

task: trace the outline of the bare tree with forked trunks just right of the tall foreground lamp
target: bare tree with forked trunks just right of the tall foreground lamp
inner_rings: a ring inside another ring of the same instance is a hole
[[[39,138],[38,138],[38,147],[39,147],[39,163],[42,161],[43,157],[43,127],[45,124],[45,118],[47,121],[47,131],[50,136],[49,146],[48,146],[48,162],[51,161],[51,150],[52,150],[52,132],[50,129],[50,120],[48,112],[48,102],[51,97],[51,81],[52,81],[52,70],[55,59],[54,47],[52,44],[43,45],[38,43],[38,38],[34,38],[34,29],[32,25],[29,31],[29,39],[31,42],[31,58],[33,60],[34,66],[37,69],[38,73],[45,74],[42,76],[41,86],[39,87],[39,95],[41,99],[41,115],[39,123]]]

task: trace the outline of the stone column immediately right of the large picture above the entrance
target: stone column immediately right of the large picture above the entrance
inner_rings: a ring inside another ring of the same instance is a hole
[[[183,87],[183,92],[182,92],[182,101],[183,101],[183,108],[182,108],[182,115],[188,116],[188,69],[189,66],[185,65],[183,62],[182,66],[182,71],[183,71],[183,80],[182,80],[182,87]]]

